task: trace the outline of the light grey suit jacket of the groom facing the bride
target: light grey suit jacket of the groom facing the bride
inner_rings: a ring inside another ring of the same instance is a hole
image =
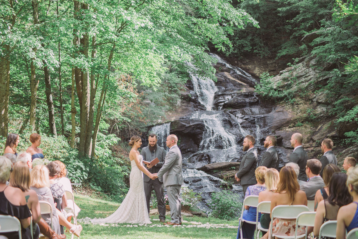
[[[173,145],[166,154],[163,167],[157,173],[159,178],[163,177],[164,186],[184,184],[182,163],[182,152],[178,145]]]

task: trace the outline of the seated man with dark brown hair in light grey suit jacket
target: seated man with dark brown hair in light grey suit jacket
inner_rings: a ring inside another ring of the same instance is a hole
[[[317,190],[324,187],[324,182],[319,172],[322,164],[318,159],[310,159],[307,161],[306,175],[308,181],[301,185],[301,190],[306,193],[307,200],[314,200]]]

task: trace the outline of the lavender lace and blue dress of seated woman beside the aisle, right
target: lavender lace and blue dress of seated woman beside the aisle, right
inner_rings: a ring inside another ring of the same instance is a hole
[[[245,198],[247,196],[258,196],[258,193],[265,191],[266,186],[258,186],[258,185],[251,185],[248,186],[245,194]],[[258,220],[260,220],[261,213],[258,214]],[[248,210],[243,211],[242,213],[242,219],[245,219],[247,221],[256,221],[256,207],[249,207]],[[255,234],[256,225],[246,223],[245,221],[242,223],[241,230],[242,230],[242,237],[243,238],[253,238],[253,234]],[[236,239],[241,238],[240,236],[240,230],[237,230],[237,236]]]

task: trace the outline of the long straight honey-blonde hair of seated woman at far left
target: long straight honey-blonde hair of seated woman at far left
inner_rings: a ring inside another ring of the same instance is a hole
[[[30,170],[24,162],[17,162],[14,164],[13,173],[10,175],[10,186],[18,187],[21,191],[29,190],[31,185]]]

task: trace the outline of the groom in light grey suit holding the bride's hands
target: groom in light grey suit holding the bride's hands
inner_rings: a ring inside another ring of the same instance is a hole
[[[165,225],[182,225],[182,205],[179,201],[179,193],[182,184],[184,184],[182,174],[183,160],[182,153],[176,143],[178,143],[176,135],[170,134],[166,138],[166,146],[170,149],[166,154],[163,167],[155,175],[156,177],[163,177],[163,184],[166,186],[168,194],[171,221],[164,223]]]

